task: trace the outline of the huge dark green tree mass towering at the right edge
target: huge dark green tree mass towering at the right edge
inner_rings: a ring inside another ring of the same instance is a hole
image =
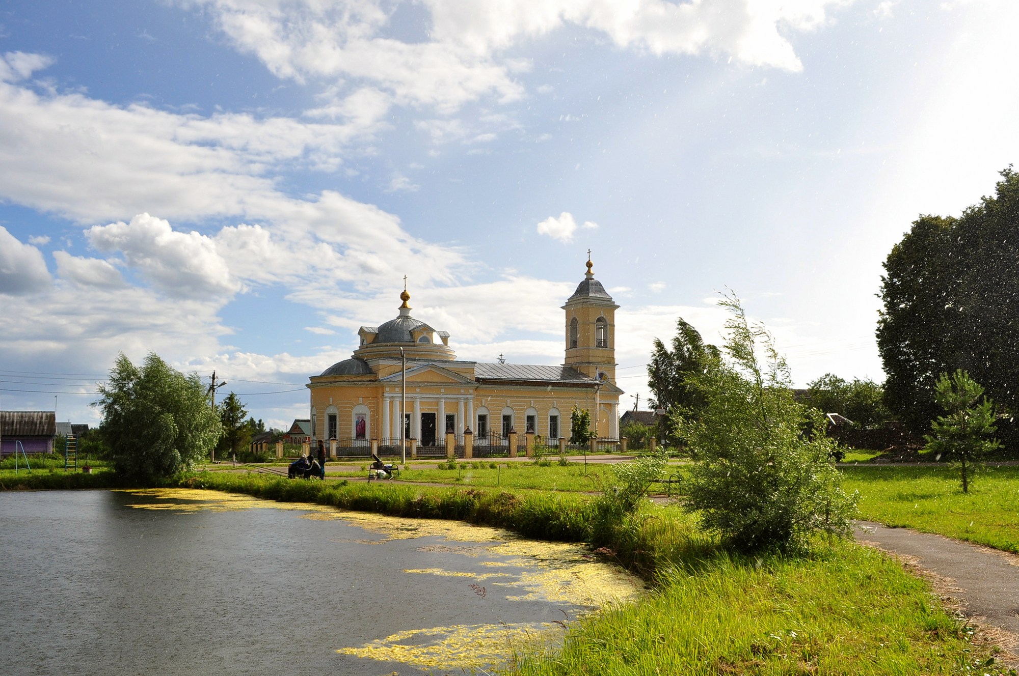
[[[1019,407],[1019,174],[958,218],[921,216],[884,262],[877,346],[889,408],[916,433],[940,413],[935,383],[958,369]]]

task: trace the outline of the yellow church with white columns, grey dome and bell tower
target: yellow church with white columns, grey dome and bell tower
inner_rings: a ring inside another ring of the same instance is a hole
[[[423,449],[442,446],[449,432],[460,447],[466,429],[475,447],[506,445],[511,432],[540,435],[554,445],[570,438],[577,407],[590,413],[600,441],[618,441],[619,305],[591,268],[588,261],[583,281],[562,305],[565,359],[557,367],[458,359],[448,333],[411,316],[405,289],[395,319],[361,327],[353,356],[309,379],[313,438],[335,439],[341,449],[372,439],[380,447],[398,446],[404,420],[406,438]]]

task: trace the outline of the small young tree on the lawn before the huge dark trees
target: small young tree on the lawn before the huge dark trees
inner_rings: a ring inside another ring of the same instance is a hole
[[[983,396],[983,388],[962,369],[951,378],[948,374],[941,375],[934,383],[934,401],[945,414],[931,424],[933,434],[924,435],[926,449],[957,463],[962,492],[969,493],[973,463],[1000,446],[998,440],[988,439],[996,429],[994,404]]]

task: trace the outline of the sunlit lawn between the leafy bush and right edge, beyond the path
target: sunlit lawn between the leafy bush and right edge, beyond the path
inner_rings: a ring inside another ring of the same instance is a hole
[[[951,467],[844,467],[860,517],[1019,554],[1019,467],[980,468],[964,494]]]

